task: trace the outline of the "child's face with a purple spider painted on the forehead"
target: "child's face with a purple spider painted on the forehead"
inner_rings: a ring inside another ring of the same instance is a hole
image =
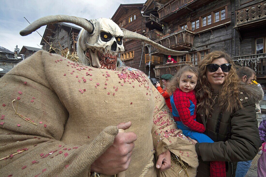
[[[182,73],[182,75],[180,76],[180,80],[179,80],[179,88],[185,92],[188,93],[192,90],[194,90],[194,88],[197,85],[197,80],[198,77],[194,75],[194,73],[191,73],[190,71],[186,71],[184,73]]]

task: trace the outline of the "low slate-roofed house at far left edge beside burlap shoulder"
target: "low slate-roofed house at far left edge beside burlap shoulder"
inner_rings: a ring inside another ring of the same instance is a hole
[[[14,52],[0,51],[0,77],[9,72],[16,64],[22,61],[22,56]]]

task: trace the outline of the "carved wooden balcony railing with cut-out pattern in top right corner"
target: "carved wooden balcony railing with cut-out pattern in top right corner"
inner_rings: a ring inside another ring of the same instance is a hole
[[[253,4],[242,9],[235,11],[236,14],[236,24],[239,26],[241,24],[253,22],[259,19],[266,18],[266,1]]]

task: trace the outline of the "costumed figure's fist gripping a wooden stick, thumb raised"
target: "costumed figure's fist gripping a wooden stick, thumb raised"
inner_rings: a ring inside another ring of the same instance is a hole
[[[117,125],[119,129],[124,130],[128,129],[130,126],[131,122]],[[136,139],[137,135],[134,132],[118,133],[114,139],[113,145],[93,162],[90,166],[90,171],[105,175],[114,175],[127,170]]]

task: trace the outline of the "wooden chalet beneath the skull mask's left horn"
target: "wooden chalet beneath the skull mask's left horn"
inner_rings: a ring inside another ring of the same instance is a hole
[[[66,23],[48,24],[41,39],[43,49],[66,57],[67,53],[77,56],[77,36],[81,28]]]

